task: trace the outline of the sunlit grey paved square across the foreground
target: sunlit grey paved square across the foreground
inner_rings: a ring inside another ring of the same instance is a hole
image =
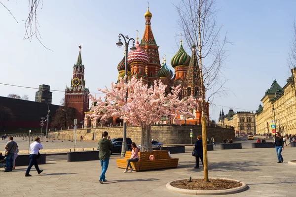
[[[296,166],[287,164],[296,160],[296,149],[285,148],[284,163],[277,164],[274,148],[215,150],[208,152],[210,177],[242,180],[248,184],[245,192],[219,197],[295,197]],[[123,173],[111,156],[106,178],[100,184],[99,161],[48,161],[40,165],[38,175],[34,166],[32,177],[25,177],[26,166],[12,172],[0,171],[0,194],[6,197],[186,197],[166,190],[168,182],[176,179],[203,177],[202,169],[194,169],[190,152],[174,154],[179,158],[178,168]]]

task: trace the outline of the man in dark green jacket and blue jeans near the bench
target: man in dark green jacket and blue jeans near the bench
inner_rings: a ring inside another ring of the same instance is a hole
[[[105,177],[105,173],[109,165],[110,149],[113,147],[111,140],[108,139],[107,131],[103,132],[103,138],[99,140],[98,144],[100,147],[99,158],[102,166],[102,172],[101,172],[99,181],[101,184],[103,184],[103,182],[107,181]]]

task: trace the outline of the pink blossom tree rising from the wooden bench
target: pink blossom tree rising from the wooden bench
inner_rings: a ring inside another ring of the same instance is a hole
[[[154,85],[148,87],[142,80],[137,80],[135,77],[132,77],[127,84],[124,83],[124,78],[120,78],[117,84],[111,83],[109,90],[98,89],[105,94],[104,101],[101,97],[95,99],[90,95],[92,102],[96,102],[96,106],[92,106],[90,111],[96,118],[107,120],[117,116],[124,122],[140,126],[141,152],[152,151],[151,125],[168,116],[177,124],[181,123],[180,117],[194,118],[191,109],[197,105],[196,99],[192,97],[179,99],[181,86],[172,87],[172,93],[167,95],[165,88],[166,85],[160,80],[155,80]],[[125,100],[127,90],[128,97]]]

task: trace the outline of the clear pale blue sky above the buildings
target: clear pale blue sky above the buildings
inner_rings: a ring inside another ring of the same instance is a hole
[[[46,84],[52,90],[65,90],[66,83],[71,83],[81,45],[86,86],[90,92],[98,92],[97,88],[109,87],[111,81],[117,80],[117,64],[124,53],[124,47],[115,45],[118,33],[136,38],[139,30],[141,39],[145,30],[146,0],[43,0],[43,7],[37,12],[39,31],[51,52],[37,39],[23,40],[28,1],[1,2],[18,23],[0,5],[0,83],[36,88]],[[180,33],[178,14],[173,5],[178,2],[149,0],[152,32],[160,46],[160,57],[166,54],[168,66],[179,47],[180,38],[175,37]],[[222,108],[225,113],[229,107],[235,111],[256,110],[274,79],[285,85],[296,1],[217,0],[217,6],[218,22],[223,25],[221,34],[227,32],[232,45],[227,45],[223,70],[228,79],[225,87],[231,92],[214,100],[216,107],[210,108],[210,117],[216,120]],[[3,97],[14,93],[35,100],[36,91],[0,85]],[[53,92],[52,103],[59,104],[63,97],[63,92]]]

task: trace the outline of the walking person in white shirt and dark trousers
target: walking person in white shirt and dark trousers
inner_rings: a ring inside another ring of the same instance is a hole
[[[40,149],[43,149],[43,146],[40,142],[40,138],[39,137],[35,137],[35,141],[30,145],[30,163],[29,166],[27,168],[26,174],[25,176],[32,176],[30,173],[31,167],[33,165],[35,165],[35,168],[38,172],[38,174],[40,174],[43,170],[40,170],[38,167],[38,163],[37,163],[37,159],[38,159],[38,152]]]

